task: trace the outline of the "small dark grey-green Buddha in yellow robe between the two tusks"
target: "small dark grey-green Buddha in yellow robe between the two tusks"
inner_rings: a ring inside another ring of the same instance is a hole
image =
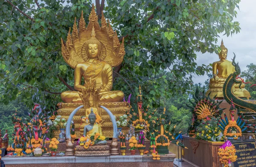
[[[87,138],[90,138],[92,135],[95,135],[95,133],[99,133],[100,135],[102,135],[102,128],[99,124],[96,124],[96,115],[93,113],[93,111],[89,114],[89,121],[90,124],[86,125],[84,127],[84,136],[86,136]],[[97,145],[105,145],[107,144],[107,141],[100,141],[99,143],[97,143]]]

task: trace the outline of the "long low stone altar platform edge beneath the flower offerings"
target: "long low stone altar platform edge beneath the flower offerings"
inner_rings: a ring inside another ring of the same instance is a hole
[[[153,160],[151,155],[111,155],[93,157],[3,157],[6,167],[173,167],[175,154],[161,155]]]

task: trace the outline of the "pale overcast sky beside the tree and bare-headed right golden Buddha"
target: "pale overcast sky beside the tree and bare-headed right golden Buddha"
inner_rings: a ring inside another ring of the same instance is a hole
[[[227,60],[231,61],[233,52],[236,54],[236,62],[239,62],[241,71],[247,70],[250,63],[256,64],[256,0],[241,0],[239,3],[240,10],[236,9],[237,17],[235,21],[240,23],[240,33],[231,37],[219,35],[218,45],[221,45],[221,38],[228,49]],[[196,63],[198,65],[209,64],[218,61],[218,55],[215,53],[198,53]],[[204,83],[208,76],[194,75],[194,83]]]

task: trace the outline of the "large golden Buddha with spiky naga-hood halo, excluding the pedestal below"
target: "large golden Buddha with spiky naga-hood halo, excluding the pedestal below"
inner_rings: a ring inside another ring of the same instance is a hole
[[[122,91],[111,91],[113,86],[113,66],[122,63],[125,55],[123,42],[120,45],[116,33],[110,24],[102,17],[102,27],[99,27],[97,16],[94,11],[89,16],[90,23],[87,28],[81,14],[79,32],[76,20],[73,26],[72,36],[70,31],[67,42],[61,39],[61,52],[64,60],[75,69],[74,88],[76,91],[61,93],[64,103],[82,103],[77,91],[81,92],[86,86],[81,85],[82,77],[84,83],[90,80],[96,82],[96,89],[102,96],[100,102],[121,102],[124,98]]]

